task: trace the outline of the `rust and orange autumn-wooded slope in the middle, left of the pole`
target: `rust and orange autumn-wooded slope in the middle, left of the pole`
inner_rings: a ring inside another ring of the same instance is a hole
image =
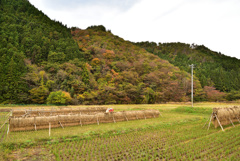
[[[106,97],[109,100],[116,100],[112,103],[160,103],[189,99],[188,73],[131,42],[98,29],[98,26],[87,30],[73,29],[72,35],[84,51],[85,60],[89,61],[89,71],[98,83],[97,89],[108,94]],[[196,88],[196,95],[201,95],[198,81]]]

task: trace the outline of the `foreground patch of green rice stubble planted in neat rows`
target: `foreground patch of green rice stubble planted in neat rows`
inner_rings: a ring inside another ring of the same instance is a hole
[[[174,128],[174,127],[172,127]],[[227,132],[206,132],[201,124],[178,130],[156,129],[109,138],[45,145],[57,160],[196,160],[237,159],[239,127]]]

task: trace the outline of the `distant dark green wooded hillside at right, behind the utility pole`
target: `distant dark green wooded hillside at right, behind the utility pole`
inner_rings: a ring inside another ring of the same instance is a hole
[[[194,64],[194,74],[206,90],[227,92],[228,100],[240,99],[240,60],[209,50],[203,45],[184,43],[139,42],[136,45],[148,52],[168,60],[181,70],[190,73]]]

